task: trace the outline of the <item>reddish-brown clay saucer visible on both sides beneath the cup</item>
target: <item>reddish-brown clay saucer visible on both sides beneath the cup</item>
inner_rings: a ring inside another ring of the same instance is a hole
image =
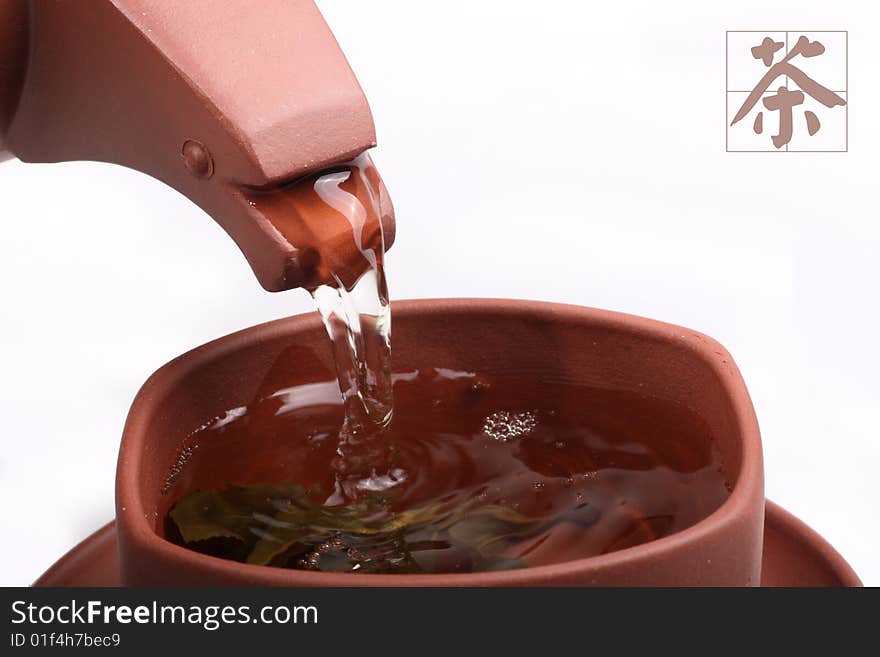
[[[34,586],[119,586],[116,523],[61,557]],[[761,586],[862,586],[853,569],[803,522],[767,501]]]

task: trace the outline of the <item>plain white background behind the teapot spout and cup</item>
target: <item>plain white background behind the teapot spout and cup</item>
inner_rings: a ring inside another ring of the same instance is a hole
[[[876,3],[319,4],[375,115],[393,297],[561,301],[717,338],[768,497],[880,584]],[[725,153],[725,30],[764,28],[849,30],[849,153]],[[263,292],[139,173],[7,162],[0,199],[0,583],[28,584],[112,518],[144,379],[310,301]]]

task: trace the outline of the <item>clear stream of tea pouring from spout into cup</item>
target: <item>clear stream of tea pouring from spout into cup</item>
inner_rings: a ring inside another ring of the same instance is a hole
[[[307,287],[330,336],[345,415],[328,504],[395,485],[402,473],[382,441],[393,410],[382,233],[390,203],[375,166],[364,154],[249,200],[305,254]]]

